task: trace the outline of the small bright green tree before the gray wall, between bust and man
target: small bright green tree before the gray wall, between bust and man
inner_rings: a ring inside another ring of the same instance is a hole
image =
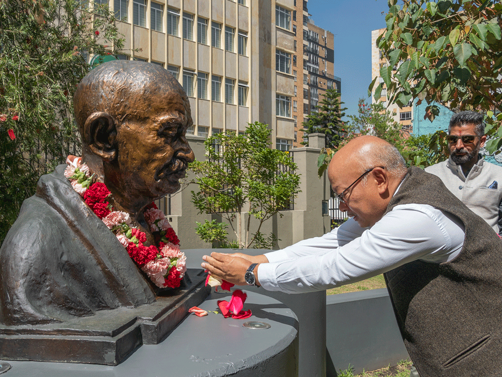
[[[205,141],[206,160],[189,166],[196,175],[191,183],[200,189],[192,191],[192,203],[200,213],[218,213],[226,219],[239,248],[272,248],[277,237],[265,235],[262,225],[277,213],[282,217],[279,211],[300,192],[296,164],[288,152],[270,149],[270,132],[256,122],[249,124],[245,135],[213,135]],[[253,218],[258,220],[255,233],[250,231]],[[206,221],[197,224],[196,231],[206,242],[230,244],[226,224]]]

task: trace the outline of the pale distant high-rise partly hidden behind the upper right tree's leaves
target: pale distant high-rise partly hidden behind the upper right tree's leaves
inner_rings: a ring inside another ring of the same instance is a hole
[[[382,57],[382,52],[376,45],[376,39],[387,29],[378,29],[371,31],[371,80],[375,77],[379,77],[380,82],[384,82],[384,79],[380,77],[380,68],[388,64],[387,60]],[[398,67],[395,67],[397,69]],[[376,85],[375,85],[376,88]],[[413,101],[407,104],[407,106],[399,107],[396,104],[389,104],[387,101],[387,89],[382,89],[380,100],[377,101],[371,94],[372,103],[381,102],[383,105],[393,114],[393,118],[396,122],[401,124],[403,130],[408,132],[413,132]]]

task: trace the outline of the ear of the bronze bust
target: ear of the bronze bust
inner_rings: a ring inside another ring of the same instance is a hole
[[[96,156],[104,161],[116,157],[117,127],[115,119],[104,112],[92,113],[84,124],[84,142]]]

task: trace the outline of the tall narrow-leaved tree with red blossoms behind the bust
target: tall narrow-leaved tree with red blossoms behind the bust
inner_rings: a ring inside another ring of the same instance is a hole
[[[0,0],[0,242],[39,176],[78,144],[73,93],[87,56],[122,48],[108,7],[86,5]]]

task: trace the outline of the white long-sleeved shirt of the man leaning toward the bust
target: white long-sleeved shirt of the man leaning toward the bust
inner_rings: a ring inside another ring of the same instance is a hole
[[[322,237],[265,254],[258,266],[268,291],[321,291],[367,279],[416,259],[450,261],[462,250],[460,220],[429,205],[399,205],[371,228],[352,218]]]

